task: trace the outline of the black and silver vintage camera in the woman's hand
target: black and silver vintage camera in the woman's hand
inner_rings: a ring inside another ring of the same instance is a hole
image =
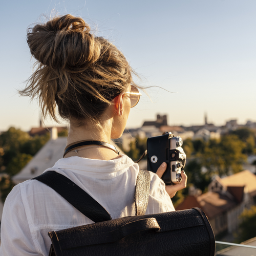
[[[162,176],[166,185],[177,184],[182,180],[181,169],[186,164],[182,143],[181,137],[174,137],[168,132],[147,139],[147,169],[156,173],[162,162],[166,162],[167,168]]]

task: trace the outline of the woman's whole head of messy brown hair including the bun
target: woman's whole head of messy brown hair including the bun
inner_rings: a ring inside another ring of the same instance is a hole
[[[38,97],[42,115],[98,122],[113,96],[134,84],[133,70],[108,40],[70,14],[28,29],[27,42],[36,70],[21,95]],[[135,85],[135,84],[134,84]]]

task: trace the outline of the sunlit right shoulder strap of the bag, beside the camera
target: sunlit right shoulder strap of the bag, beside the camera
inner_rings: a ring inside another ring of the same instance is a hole
[[[150,172],[139,170],[135,187],[135,209],[136,216],[144,215],[148,204],[150,193]]]

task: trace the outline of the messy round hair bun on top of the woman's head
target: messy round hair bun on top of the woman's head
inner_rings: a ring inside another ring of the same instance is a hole
[[[100,55],[89,25],[71,15],[36,25],[29,30],[27,42],[31,54],[52,69],[85,68]]]

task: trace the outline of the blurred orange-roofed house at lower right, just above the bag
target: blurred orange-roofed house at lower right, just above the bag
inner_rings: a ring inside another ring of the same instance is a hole
[[[216,177],[208,186],[208,192],[186,197],[176,210],[202,208],[209,218],[215,234],[237,230],[239,216],[256,199],[256,176],[244,170],[226,178]]]

